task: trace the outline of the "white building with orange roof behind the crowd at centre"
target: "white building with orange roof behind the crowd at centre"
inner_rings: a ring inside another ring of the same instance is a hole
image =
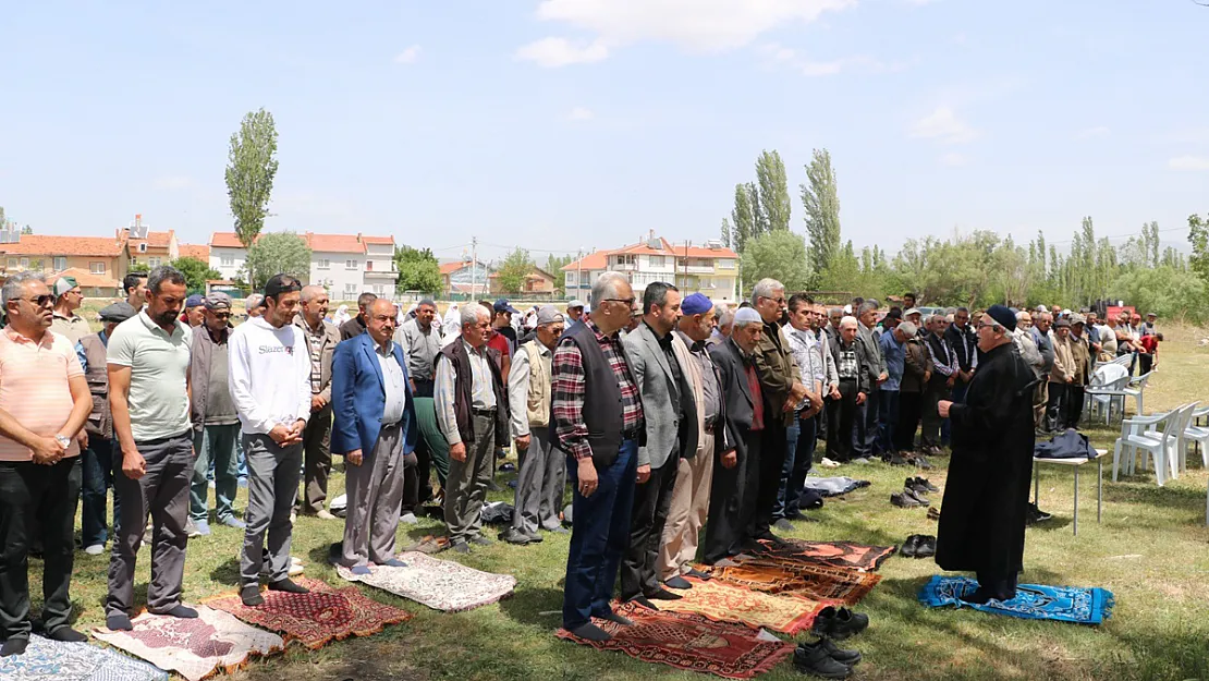
[[[721,242],[704,247],[672,244],[654,233],[638,243],[614,250],[597,250],[562,269],[567,298],[589,300],[592,282],[604,271],[625,272],[635,295],[654,282],[669,282],[683,295],[702,293],[715,302],[736,302],[739,254]]]

